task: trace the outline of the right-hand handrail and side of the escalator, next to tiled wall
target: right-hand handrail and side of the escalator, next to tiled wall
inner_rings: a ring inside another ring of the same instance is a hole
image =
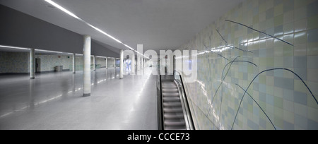
[[[177,74],[179,75],[180,80],[175,80],[175,83],[178,85],[178,88],[181,89],[179,90],[179,93],[180,93],[180,98],[182,100],[182,103],[184,104],[184,110],[185,110],[184,119],[186,119],[187,129],[189,128],[189,130],[194,130],[195,129],[194,122],[192,119],[191,110],[189,108],[189,102],[187,99],[187,93],[185,91],[184,83],[182,80],[182,75],[178,71],[175,71],[175,75]]]

